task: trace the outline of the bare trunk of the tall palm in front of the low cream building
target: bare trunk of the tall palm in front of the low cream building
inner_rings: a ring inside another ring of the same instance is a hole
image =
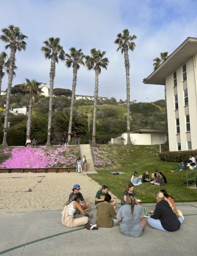
[[[130,137],[130,60],[128,59],[128,49],[124,48],[124,57],[125,57],[125,71],[126,71],[126,101],[127,101],[127,145],[131,144]]]

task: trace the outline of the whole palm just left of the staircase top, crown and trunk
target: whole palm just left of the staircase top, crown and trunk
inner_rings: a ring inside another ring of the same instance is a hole
[[[84,57],[82,50],[76,50],[74,47],[71,47],[70,49],[70,55],[65,54],[66,61],[65,65],[66,67],[70,68],[72,66],[73,68],[73,79],[72,79],[72,97],[71,97],[71,110],[70,110],[70,120],[69,120],[69,131],[68,131],[68,139],[67,143],[71,144],[71,132],[72,132],[72,115],[73,115],[73,108],[74,108],[74,97],[75,97],[75,91],[76,91],[76,85],[77,85],[77,71],[80,68],[80,65],[84,65]]]

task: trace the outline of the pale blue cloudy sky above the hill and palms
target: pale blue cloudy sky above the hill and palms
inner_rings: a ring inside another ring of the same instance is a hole
[[[130,100],[153,102],[164,99],[164,86],[144,85],[153,71],[153,59],[161,52],[171,54],[187,37],[197,37],[196,0],[0,0],[0,29],[10,24],[28,36],[26,50],[16,53],[16,77],[49,85],[50,60],[40,50],[49,37],[59,37],[69,53],[71,47],[85,55],[96,48],[105,51],[109,63],[99,75],[99,96],[126,100],[124,55],[114,40],[125,28],[136,35],[130,58]],[[2,34],[2,31],[0,31]],[[0,52],[5,49],[0,41]],[[8,55],[9,50],[6,50]],[[94,95],[94,71],[80,67],[76,94]],[[72,68],[59,61],[54,88],[72,89]],[[4,76],[2,90],[8,84]]]

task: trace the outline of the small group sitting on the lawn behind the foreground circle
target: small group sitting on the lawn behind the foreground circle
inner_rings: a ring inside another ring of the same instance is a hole
[[[165,183],[167,183],[165,175],[162,174],[162,172],[159,170],[154,171],[153,178],[150,178],[148,171],[145,171],[145,173],[142,175],[142,181],[150,182],[152,185],[165,185]],[[131,182],[134,186],[142,184],[137,171],[135,171],[134,174],[132,175]]]

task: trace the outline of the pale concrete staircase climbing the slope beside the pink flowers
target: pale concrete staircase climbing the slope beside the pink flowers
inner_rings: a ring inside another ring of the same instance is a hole
[[[87,164],[86,164],[87,173],[97,174],[97,172],[94,169],[94,163],[93,163],[93,159],[92,159],[90,145],[89,144],[80,144],[80,152],[81,152],[81,161],[83,159],[83,156],[85,156],[87,159]]]

